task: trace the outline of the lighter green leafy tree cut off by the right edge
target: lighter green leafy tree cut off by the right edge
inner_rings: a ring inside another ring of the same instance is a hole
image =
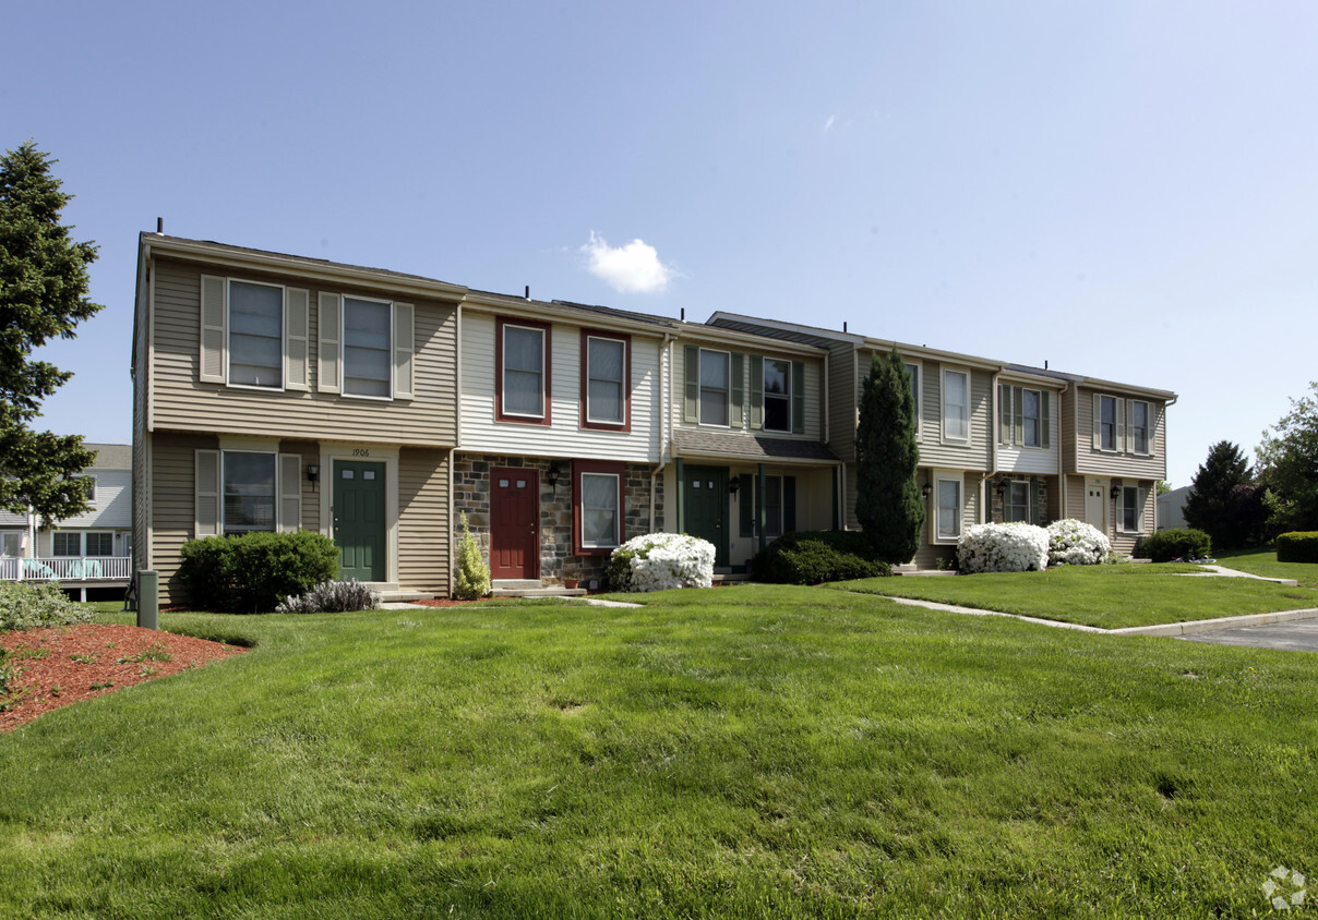
[[[1259,445],[1260,479],[1268,488],[1272,533],[1318,530],[1318,382],[1290,400],[1290,412]]]

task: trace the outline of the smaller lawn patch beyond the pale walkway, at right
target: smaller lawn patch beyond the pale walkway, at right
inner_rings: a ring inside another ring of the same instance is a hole
[[[1318,592],[1251,578],[1189,576],[1190,565],[1064,566],[1048,571],[837,582],[844,591],[936,600],[1102,629],[1318,607]]]

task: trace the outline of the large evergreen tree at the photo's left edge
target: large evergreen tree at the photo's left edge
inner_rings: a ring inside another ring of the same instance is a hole
[[[74,242],[59,213],[72,197],[33,141],[0,158],[0,508],[46,521],[87,509],[95,454],[82,436],[32,430],[41,401],[72,376],[32,353],[101,309],[87,299],[96,246]]]

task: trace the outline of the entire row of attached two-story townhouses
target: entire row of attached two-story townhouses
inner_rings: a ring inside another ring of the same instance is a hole
[[[331,536],[345,578],[410,598],[451,592],[463,515],[509,588],[600,586],[645,533],[704,537],[731,575],[783,533],[858,528],[859,395],[894,342],[161,233],[138,253],[117,546],[163,603],[186,598],[185,541],[250,530]],[[928,501],[912,566],[982,521],[1081,517],[1119,551],[1155,529],[1174,394],[900,349]]]

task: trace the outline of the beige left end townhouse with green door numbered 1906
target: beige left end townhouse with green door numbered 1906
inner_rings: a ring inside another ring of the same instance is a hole
[[[141,234],[132,545],[162,603],[185,541],[298,528],[336,540],[345,578],[448,594],[465,292]]]

